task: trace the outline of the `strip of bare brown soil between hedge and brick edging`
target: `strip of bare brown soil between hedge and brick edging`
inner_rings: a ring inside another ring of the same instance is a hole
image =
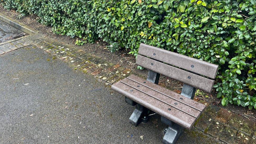
[[[28,25],[29,27],[35,30],[38,30],[40,33],[50,35],[53,38],[56,38],[62,42],[66,42],[67,44],[72,44],[73,46],[76,46],[75,45],[76,38],[70,38],[68,36],[54,34],[50,26],[42,25],[37,22],[38,17],[36,15],[24,16],[19,19],[19,13],[16,13],[14,10],[6,10],[2,6],[0,6],[0,12],[7,15],[8,17],[11,17],[13,19],[16,19],[19,22],[22,22]],[[87,51],[92,51],[97,56],[106,57],[109,62],[119,63],[123,67],[131,68],[134,72],[141,73],[144,76],[147,75],[147,70],[137,70],[137,66],[135,64],[135,61],[136,61],[135,57],[132,55],[129,55],[126,50],[121,49],[120,51],[111,53],[109,50],[107,50],[106,45],[107,44],[105,42],[99,39],[92,44],[83,44],[82,46],[76,46],[76,47],[79,47],[80,49],[84,49]],[[183,85],[182,83],[165,76],[160,77],[159,83],[160,85],[161,84],[165,85],[166,87],[169,87],[169,89],[176,92],[180,92]],[[214,104],[221,108],[228,109],[232,112],[242,115],[247,119],[256,121],[256,110],[249,110],[248,108],[244,108],[237,105],[231,105],[231,104],[223,107],[221,105],[221,99],[216,98],[215,92],[212,92],[211,94],[207,94],[205,92],[197,90],[195,97],[200,100],[204,100],[207,103]]]

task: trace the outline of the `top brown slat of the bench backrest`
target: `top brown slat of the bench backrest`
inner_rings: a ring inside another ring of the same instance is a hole
[[[141,43],[139,54],[214,79],[218,65]],[[143,61],[140,61],[140,65]],[[193,65],[193,66],[192,66]]]

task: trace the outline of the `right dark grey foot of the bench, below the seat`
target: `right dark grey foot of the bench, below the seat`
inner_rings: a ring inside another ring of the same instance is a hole
[[[180,135],[182,135],[184,128],[175,124],[174,122],[164,118],[161,116],[161,121],[164,124],[168,125],[168,128],[164,129],[164,137],[163,143],[164,144],[174,144],[179,139]]]

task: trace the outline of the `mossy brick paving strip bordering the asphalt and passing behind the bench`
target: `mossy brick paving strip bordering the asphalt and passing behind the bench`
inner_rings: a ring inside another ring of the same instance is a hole
[[[135,74],[142,78],[144,75],[134,73],[117,63],[110,63],[104,57],[93,55],[89,51],[78,49],[72,45],[64,44],[45,35],[35,34],[23,39],[0,44],[0,55],[12,52],[21,47],[33,45],[51,54],[53,58],[59,58],[69,63],[85,73],[92,74],[98,79],[111,85],[130,74]],[[159,84],[166,87],[164,84]],[[169,87],[166,87],[170,89]],[[180,93],[179,90],[174,90]],[[224,143],[254,143],[256,144],[255,122],[245,119],[236,113],[232,113],[218,106],[208,104],[197,98],[194,99],[207,105],[205,112],[195,123],[195,128],[202,133],[208,134]]]

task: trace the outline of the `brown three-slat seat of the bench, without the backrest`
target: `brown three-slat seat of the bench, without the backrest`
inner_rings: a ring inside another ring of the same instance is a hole
[[[111,89],[186,129],[192,128],[206,108],[204,104],[135,75],[115,83]]]

